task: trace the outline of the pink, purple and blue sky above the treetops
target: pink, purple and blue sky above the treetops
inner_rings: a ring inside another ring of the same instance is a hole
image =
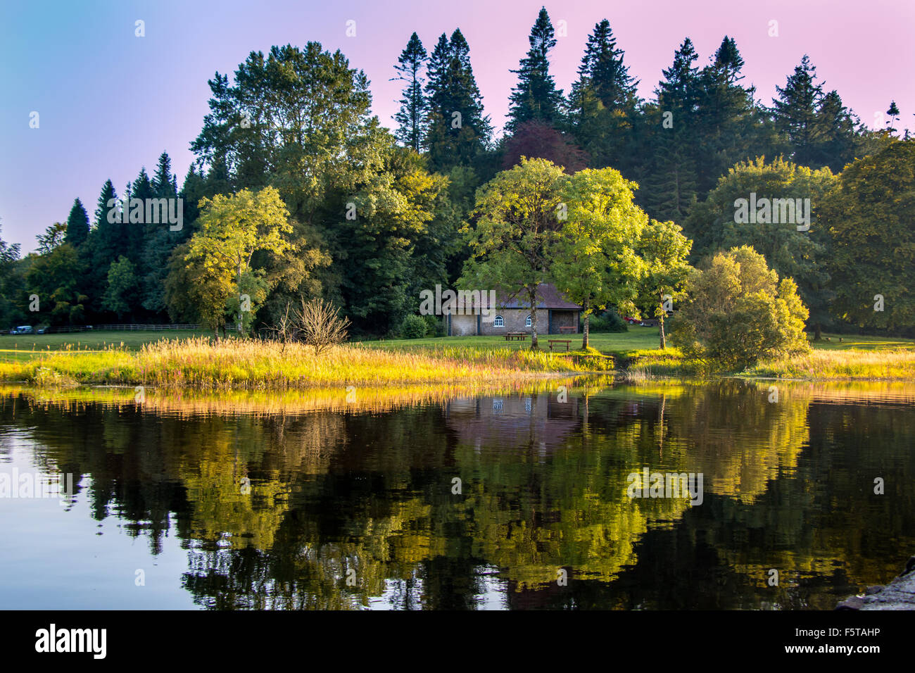
[[[66,219],[80,197],[92,219],[102,183],[118,193],[141,166],[152,173],[163,149],[180,185],[193,155],[189,142],[207,114],[214,71],[233,73],[252,50],[321,42],[341,49],[371,80],[373,111],[392,125],[401,82],[393,64],[415,30],[429,51],[460,27],[487,114],[501,132],[508,95],[543,3],[509,0],[397,2],[47,2],[0,7],[0,226],[4,240],[36,247],[35,235]],[[754,83],[769,104],[804,53],[827,90],[868,125],[895,99],[899,127],[915,130],[915,2],[911,0],[644,0],[547,3],[567,37],[552,55],[567,93],[587,34],[608,18],[630,74],[651,98],[662,68],[689,36],[705,65],[726,34],[737,39]],[[135,37],[135,20],[145,38]],[[356,21],[356,37],[346,22]],[[770,20],[779,37],[770,38]],[[231,79],[231,78],[230,78]],[[37,111],[39,128],[29,128]]]

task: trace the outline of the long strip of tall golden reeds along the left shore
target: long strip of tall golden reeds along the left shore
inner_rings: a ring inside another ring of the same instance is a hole
[[[493,382],[587,371],[571,356],[500,348],[384,351],[342,345],[316,356],[302,344],[229,339],[166,340],[138,353],[48,353],[0,364],[0,380],[32,385],[151,385],[202,389],[301,388]]]

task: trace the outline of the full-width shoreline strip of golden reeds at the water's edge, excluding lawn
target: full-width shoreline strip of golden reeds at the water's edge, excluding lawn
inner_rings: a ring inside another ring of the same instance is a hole
[[[137,351],[49,351],[0,362],[0,382],[60,387],[146,385],[175,389],[307,389],[327,385],[482,385],[577,375],[651,381],[853,383],[915,381],[915,350],[813,350],[760,362],[742,372],[703,372],[678,349],[550,353],[487,344],[418,348],[347,343],[322,353],[302,343],[162,340]]]

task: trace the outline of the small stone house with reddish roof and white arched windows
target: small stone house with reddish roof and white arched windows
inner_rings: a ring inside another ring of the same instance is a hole
[[[489,309],[487,293],[482,293],[482,308]],[[537,288],[537,333],[567,334],[581,331],[581,311],[578,304],[565,299],[551,283],[541,283]],[[527,292],[521,290],[513,296],[496,295],[495,305],[489,316],[481,311],[464,314],[451,313],[444,316],[447,336],[507,334],[508,332],[530,333],[533,330],[533,315]]]

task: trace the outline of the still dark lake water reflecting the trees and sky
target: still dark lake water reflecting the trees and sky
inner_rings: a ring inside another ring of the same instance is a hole
[[[915,385],[564,385],[0,388],[0,608],[833,609],[915,552]]]

